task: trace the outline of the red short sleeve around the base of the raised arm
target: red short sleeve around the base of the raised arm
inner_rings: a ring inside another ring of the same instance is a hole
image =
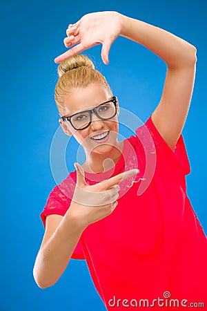
[[[156,149],[160,150],[160,152],[164,152],[165,155],[172,160],[172,162],[176,162],[178,164],[179,171],[181,171],[182,174],[187,175],[190,173],[190,162],[188,160],[188,154],[186,152],[183,136],[179,136],[175,149],[172,151],[172,149],[170,149],[168,144],[165,142],[164,138],[162,138],[155,124],[152,122],[151,115],[145,122],[144,126],[146,126],[148,131],[150,131],[150,135],[152,136]],[[136,130],[137,135],[140,133],[139,129],[140,128]]]

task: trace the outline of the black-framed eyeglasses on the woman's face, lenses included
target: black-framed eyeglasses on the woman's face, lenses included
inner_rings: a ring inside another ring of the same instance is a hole
[[[68,120],[72,127],[77,131],[86,129],[86,127],[88,127],[92,122],[92,113],[95,113],[95,115],[97,115],[97,117],[101,120],[109,120],[112,119],[112,117],[115,117],[117,114],[117,100],[117,97],[113,96],[112,100],[103,102],[93,109],[75,113],[74,115],[70,115],[70,117],[61,118],[64,122]]]

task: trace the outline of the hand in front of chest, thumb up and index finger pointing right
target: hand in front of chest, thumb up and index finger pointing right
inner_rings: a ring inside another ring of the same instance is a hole
[[[118,183],[139,173],[138,169],[130,169],[96,185],[88,185],[79,164],[76,163],[75,168],[77,184],[69,210],[73,218],[76,218],[83,227],[111,214],[118,204],[120,190]]]

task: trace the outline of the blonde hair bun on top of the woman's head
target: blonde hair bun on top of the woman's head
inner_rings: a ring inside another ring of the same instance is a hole
[[[90,58],[88,58],[88,56],[78,54],[61,62],[57,68],[57,73],[59,77],[61,77],[61,75],[63,75],[64,73],[67,73],[67,71],[70,71],[72,69],[76,69],[79,67],[83,67],[83,66],[92,68],[92,69],[95,68],[93,62],[90,60]]]

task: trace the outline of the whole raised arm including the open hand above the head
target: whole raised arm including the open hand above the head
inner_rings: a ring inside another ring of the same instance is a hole
[[[102,44],[101,57],[108,64],[108,53],[121,35],[150,49],[166,62],[167,73],[161,100],[152,113],[152,122],[171,149],[174,149],[186,122],[195,82],[196,48],[161,28],[121,15],[118,12],[97,12],[84,15],[66,30],[64,43],[70,48],[55,59],[76,55]]]

